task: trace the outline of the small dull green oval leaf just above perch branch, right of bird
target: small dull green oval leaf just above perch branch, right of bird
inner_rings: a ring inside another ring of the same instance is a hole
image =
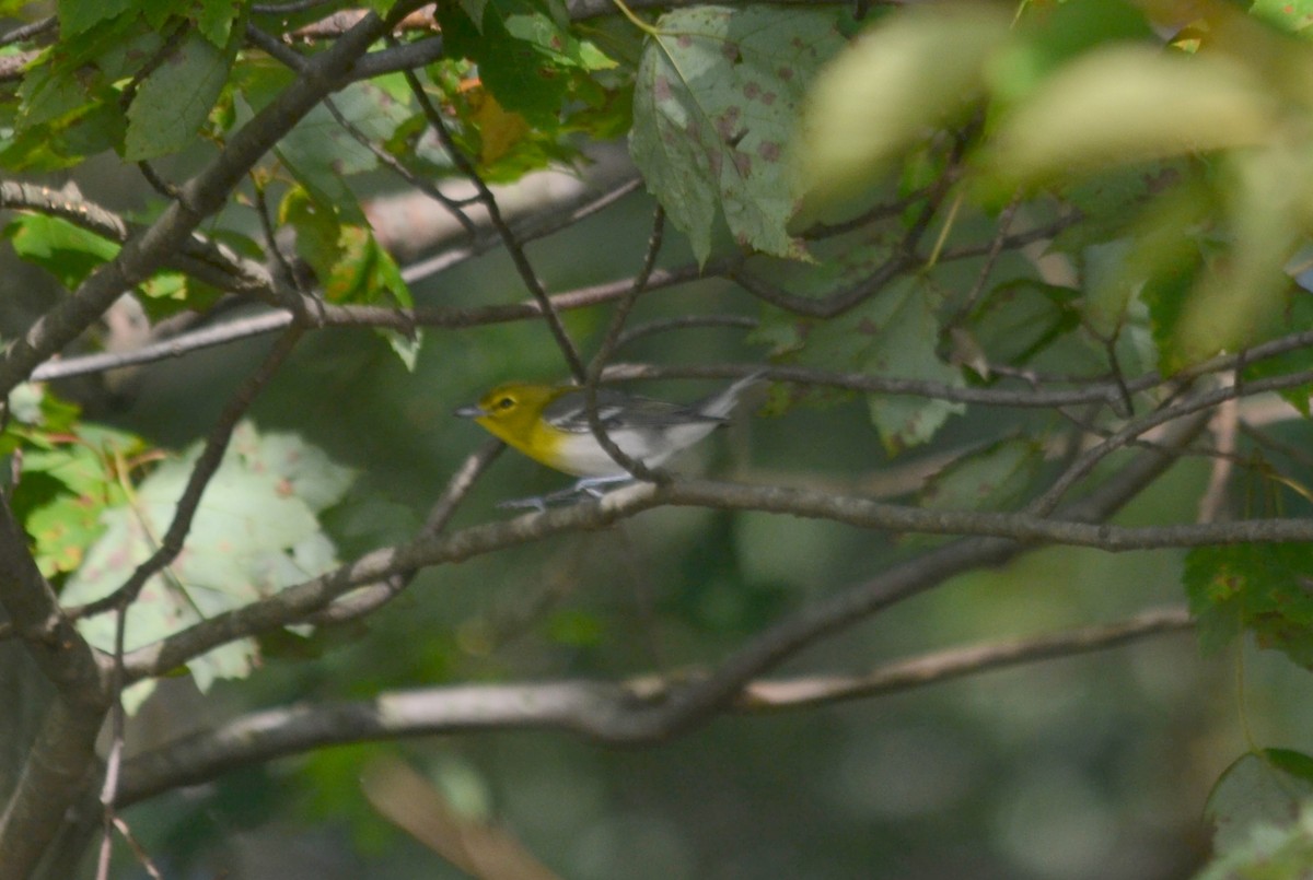
[[[930,510],[1007,510],[1020,501],[1044,463],[1044,447],[1020,438],[968,452],[922,488]]]

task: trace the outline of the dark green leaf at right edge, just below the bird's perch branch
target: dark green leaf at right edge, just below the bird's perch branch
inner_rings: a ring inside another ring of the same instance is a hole
[[[1275,648],[1313,668],[1313,544],[1196,547],[1182,581],[1205,650],[1228,644],[1241,628],[1259,647]]]

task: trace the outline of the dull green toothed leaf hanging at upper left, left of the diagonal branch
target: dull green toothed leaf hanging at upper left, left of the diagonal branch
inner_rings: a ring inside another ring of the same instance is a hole
[[[127,108],[123,159],[167,156],[193,143],[227,83],[236,45],[234,39],[227,49],[215,47],[196,33],[183,37]]]

